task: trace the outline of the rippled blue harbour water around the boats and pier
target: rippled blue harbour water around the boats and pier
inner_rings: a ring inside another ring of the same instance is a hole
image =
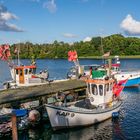
[[[29,60],[22,60],[29,64]],[[101,64],[102,60],[80,60],[80,64]],[[37,60],[38,72],[48,69],[50,79],[66,78],[66,74],[73,63],[64,59]],[[121,60],[121,69],[140,70],[140,59]],[[10,80],[10,73],[5,62],[0,61],[0,85]],[[124,104],[117,121],[107,120],[98,125],[86,128],[53,132],[49,122],[37,129],[30,129],[20,133],[20,140],[140,140],[140,88],[124,89]],[[2,138],[9,140],[10,138]]]

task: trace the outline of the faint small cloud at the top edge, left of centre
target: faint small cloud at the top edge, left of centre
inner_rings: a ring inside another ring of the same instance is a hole
[[[47,0],[43,4],[44,8],[47,8],[51,13],[54,13],[57,10],[55,0]]]

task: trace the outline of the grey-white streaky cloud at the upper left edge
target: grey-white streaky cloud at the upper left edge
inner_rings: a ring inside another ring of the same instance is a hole
[[[5,6],[0,5],[0,31],[22,32],[23,30],[16,25],[7,23],[9,20],[16,19],[18,19],[16,15],[8,12]]]

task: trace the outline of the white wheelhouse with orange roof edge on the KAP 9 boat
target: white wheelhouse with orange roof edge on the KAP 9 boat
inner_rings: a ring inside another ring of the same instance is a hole
[[[92,105],[99,106],[112,101],[114,80],[88,79],[87,91]]]

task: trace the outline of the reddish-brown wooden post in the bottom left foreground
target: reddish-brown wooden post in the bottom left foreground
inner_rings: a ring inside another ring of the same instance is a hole
[[[17,117],[12,113],[12,140],[18,140]]]

